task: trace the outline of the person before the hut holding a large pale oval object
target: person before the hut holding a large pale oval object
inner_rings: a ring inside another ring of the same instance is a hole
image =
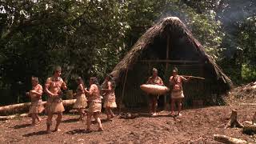
[[[152,76],[148,78],[146,84],[153,84],[153,85],[160,85],[163,86],[162,79],[158,77],[158,70],[153,68]],[[159,95],[150,94],[150,115],[156,116],[157,115],[157,106],[158,106],[158,97]]]

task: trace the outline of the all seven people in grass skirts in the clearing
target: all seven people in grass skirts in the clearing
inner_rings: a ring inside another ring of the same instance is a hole
[[[182,110],[182,99],[184,98],[182,90],[182,82],[187,82],[191,77],[184,78],[178,75],[178,69],[174,68],[172,71],[172,76],[170,76],[169,82],[171,87],[171,115],[174,115],[174,105],[178,102],[178,115],[181,115]],[[54,114],[57,114],[56,126],[53,131],[58,131],[58,126],[62,121],[62,112],[65,110],[62,104],[62,90],[67,90],[66,82],[61,78],[62,69],[57,66],[54,69],[54,75],[46,79],[44,90],[42,86],[38,83],[38,78],[32,77],[32,90],[27,94],[31,98],[30,114],[32,118],[32,125],[36,125],[36,120],[38,123],[42,122],[42,118],[39,118],[38,114],[46,110],[47,120],[46,120],[46,132],[51,133],[50,126],[52,125],[52,118]],[[107,120],[114,118],[114,113],[112,109],[117,107],[115,102],[115,82],[111,74],[107,74],[105,82],[102,86],[99,86],[98,79],[96,77],[90,77],[90,88],[87,89],[81,77],[76,79],[78,83],[78,88],[76,90],[73,108],[78,110],[80,114],[79,119],[83,119],[84,115],[87,115],[86,125],[87,132],[90,132],[91,117],[94,116],[95,120],[98,122],[98,130],[102,131],[102,122],[100,119],[100,114],[102,111],[102,96],[104,99],[103,107],[106,110]],[[158,70],[152,70],[152,76],[148,78],[147,84],[153,85],[164,85],[162,78],[158,77]],[[42,105],[42,93],[43,91],[47,94],[46,108]],[[158,95],[150,95],[150,115],[155,116],[158,105]],[[88,109],[86,110],[86,108]],[[86,110],[86,113],[85,113]]]

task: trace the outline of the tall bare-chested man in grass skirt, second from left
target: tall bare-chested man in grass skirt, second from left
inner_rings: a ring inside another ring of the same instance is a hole
[[[46,103],[46,112],[48,114],[47,118],[47,129],[46,132],[50,133],[50,126],[52,124],[52,118],[54,114],[58,114],[56,118],[56,126],[54,131],[59,131],[58,126],[62,121],[62,112],[65,110],[62,104],[62,90],[66,90],[66,83],[63,82],[60,77],[62,74],[62,68],[57,66],[54,69],[54,76],[47,78],[45,84],[45,91],[48,95],[47,103]]]

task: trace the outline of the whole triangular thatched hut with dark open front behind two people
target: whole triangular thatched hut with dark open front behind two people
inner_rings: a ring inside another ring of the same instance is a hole
[[[153,67],[158,68],[158,75],[167,86],[174,66],[178,67],[179,74],[206,78],[185,83],[185,106],[190,106],[194,100],[219,103],[221,95],[230,89],[230,78],[206,54],[181,20],[170,17],[147,30],[114,67],[111,74],[118,85],[117,97],[119,100],[122,97],[125,106],[146,106],[147,96],[139,86],[150,77]]]

